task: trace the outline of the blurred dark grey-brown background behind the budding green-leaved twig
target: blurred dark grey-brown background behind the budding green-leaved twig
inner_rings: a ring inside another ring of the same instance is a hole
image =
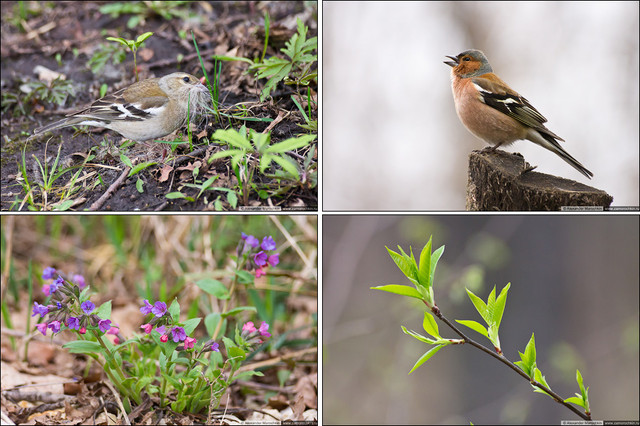
[[[486,300],[511,282],[500,327],[505,356],[535,332],[538,367],[564,398],[580,369],[594,419],[638,419],[637,216],[335,216],[323,218],[323,420],[355,424],[557,424],[579,420],[487,354],[443,348],[411,375],[430,346],[424,305],[370,290],[410,284],[389,257],[429,235],[445,245],[435,299],[449,319],[482,322],[464,288]],[[443,337],[457,338],[438,321]],[[460,326],[461,329],[464,327]],[[482,344],[490,342],[466,329]]]

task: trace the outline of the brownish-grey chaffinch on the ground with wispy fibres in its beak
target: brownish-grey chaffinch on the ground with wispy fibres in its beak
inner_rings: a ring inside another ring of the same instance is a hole
[[[156,139],[186,124],[188,100],[193,113],[206,102],[206,93],[207,88],[196,77],[174,72],[133,83],[33,133],[35,136],[61,127],[85,125],[106,127],[134,141]]]

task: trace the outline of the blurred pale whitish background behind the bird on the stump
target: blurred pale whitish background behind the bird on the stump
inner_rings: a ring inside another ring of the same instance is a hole
[[[536,171],[637,206],[638,2],[324,2],[323,208],[464,210],[468,155],[445,55],[483,50],[586,179],[532,142]],[[501,148],[502,149],[502,148]]]

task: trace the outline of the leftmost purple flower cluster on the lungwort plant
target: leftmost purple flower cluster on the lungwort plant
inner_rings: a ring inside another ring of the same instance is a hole
[[[54,268],[48,267],[42,273],[42,278],[53,280],[57,274],[58,272]],[[47,328],[50,328],[54,334],[59,333],[64,324],[66,329],[78,330],[78,333],[85,334],[87,327],[90,327],[103,333],[115,335],[114,340],[118,344],[122,340],[122,336],[119,335],[120,330],[111,325],[111,320],[102,319],[93,314],[96,308],[93,302],[85,300],[80,304],[80,309],[74,304],[75,300],[79,301],[80,288],[87,284],[82,275],[74,275],[73,281],[75,284],[58,275],[51,284],[42,287],[42,292],[46,296],[51,296],[50,301],[55,304],[41,305],[38,302],[33,302],[32,317],[36,315],[40,315],[41,318],[49,316],[48,321],[36,324],[38,331],[44,336],[47,334]]]

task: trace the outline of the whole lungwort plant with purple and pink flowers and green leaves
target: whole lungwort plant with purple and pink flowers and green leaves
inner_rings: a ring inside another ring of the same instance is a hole
[[[270,266],[279,263],[275,250],[273,237],[264,237],[261,243],[243,232],[236,249],[235,270],[229,272],[233,276],[231,288],[215,280],[198,281],[203,291],[225,300],[222,312],[205,319],[208,335],[204,338],[195,337],[201,318],[181,321],[177,299],[170,303],[144,299],[139,308],[144,315],[142,334],[126,338],[112,322],[111,300],[96,306],[90,300],[92,293],[84,277],[65,278],[53,267],[42,274],[44,280],[53,281],[42,288],[47,296],[45,303],[33,302],[32,316],[40,316],[36,328],[45,336],[48,330],[53,334],[63,330],[76,334],[77,340],[63,347],[70,353],[85,354],[103,367],[127,412],[134,404],[157,397],[161,409],[170,406],[176,412],[192,413],[208,409],[211,414],[234,381],[263,375],[251,369],[241,371],[240,367],[271,336],[269,324],[262,321],[255,326],[247,321],[240,326],[236,322],[235,329],[229,332],[231,337],[225,336],[224,330],[232,317],[256,311],[253,306],[232,306],[227,302],[239,280],[251,282],[252,275],[265,275]],[[113,340],[107,338],[109,335]]]

